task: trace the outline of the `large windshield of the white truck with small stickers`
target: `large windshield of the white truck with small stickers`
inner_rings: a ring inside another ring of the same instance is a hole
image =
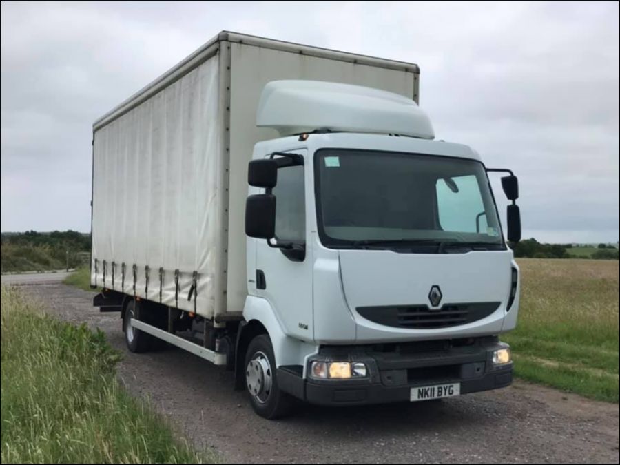
[[[326,247],[504,248],[482,163],[320,149],[315,168],[318,229]]]

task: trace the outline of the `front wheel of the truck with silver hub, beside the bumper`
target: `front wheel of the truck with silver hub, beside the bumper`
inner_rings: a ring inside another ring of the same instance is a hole
[[[280,391],[276,376],[276,358],[269,335],[250,341],[245,353],[245,389],[252,409],[268,420],[291,413],[293,397]]]

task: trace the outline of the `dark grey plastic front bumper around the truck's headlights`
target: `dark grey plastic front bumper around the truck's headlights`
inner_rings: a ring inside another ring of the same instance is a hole
[[[406,354],[360,347],[323,347],[317,360],[364,362],[369,369],[368,378],[303,379],[299,369],[284,366],[278,369],[278,384],[282,391],[301,400],[331,406],[409,402],[413,387],[455,382],[461,384],[461,394],[488,391],[513,382],[513,364],[494,366],[491,360],[493,351],[504,347],[508,345],[497,339],[443,351]]]

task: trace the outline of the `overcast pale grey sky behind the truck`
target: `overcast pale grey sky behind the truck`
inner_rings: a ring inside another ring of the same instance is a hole
[[[3,1],[0,230],[90,231],[93,121],[232,30],[417,63],[436,137],[519,176],[524,238],[617,242],[618,17],[615,1]]]

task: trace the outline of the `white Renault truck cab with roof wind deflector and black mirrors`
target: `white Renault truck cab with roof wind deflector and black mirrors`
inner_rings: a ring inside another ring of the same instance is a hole
[[[257,124],[282,137],[248,169],[243,316],[271,344],[242,351],[256,411],[510,384],[499,334],[517,322],[519,269],[477,152],[433,140],[415,102],[355,85],[269,83]],[[514,203],[515,176],[502,185]],[[508,223],[519,240],[516,205]]]

